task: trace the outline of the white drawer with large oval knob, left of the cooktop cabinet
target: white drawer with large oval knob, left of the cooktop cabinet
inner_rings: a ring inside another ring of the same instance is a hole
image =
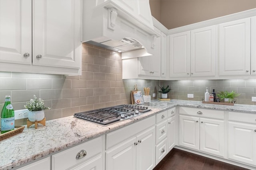
[[[102,154],[103,137],[104,135],[52,155],[52,170],[67,169],[81,162],[85,162],[96,154]],[[80,150],[85,150],[86,156],[76,159],[76,154],[80,152]]]

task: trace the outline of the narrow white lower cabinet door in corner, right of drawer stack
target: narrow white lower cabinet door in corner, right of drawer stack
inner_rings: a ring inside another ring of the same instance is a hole
[[[176,137],[175,137],[175,131],[176,131],[176,128],[175,128],[175,118],[176,116],[173,116],[173,117],[170,117],[167,122],[167,146],[168,146],[168,151],[172,150],[175,146],[175,140],[176,140]]]

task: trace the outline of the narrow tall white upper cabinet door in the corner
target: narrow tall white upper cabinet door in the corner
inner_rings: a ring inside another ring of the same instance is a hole
[[[161,77],[166,77],[167,36],[161,32]]]

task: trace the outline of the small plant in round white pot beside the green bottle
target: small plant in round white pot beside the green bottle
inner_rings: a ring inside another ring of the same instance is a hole
[[[51,109],[50,107],[44,106],[44,100],[41,98],[37,98],[36,95],[33,96],[34,99],[30,99],[30,101],[24,106],[28,109],[28,120],[29,121],[41,121],[44,119],[44,110]]]

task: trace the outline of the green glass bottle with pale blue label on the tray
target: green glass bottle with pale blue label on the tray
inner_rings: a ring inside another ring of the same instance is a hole
[[[4,107],[1,112],[1,134],[14,129],[14,110],[10,95],[5,96]]]

